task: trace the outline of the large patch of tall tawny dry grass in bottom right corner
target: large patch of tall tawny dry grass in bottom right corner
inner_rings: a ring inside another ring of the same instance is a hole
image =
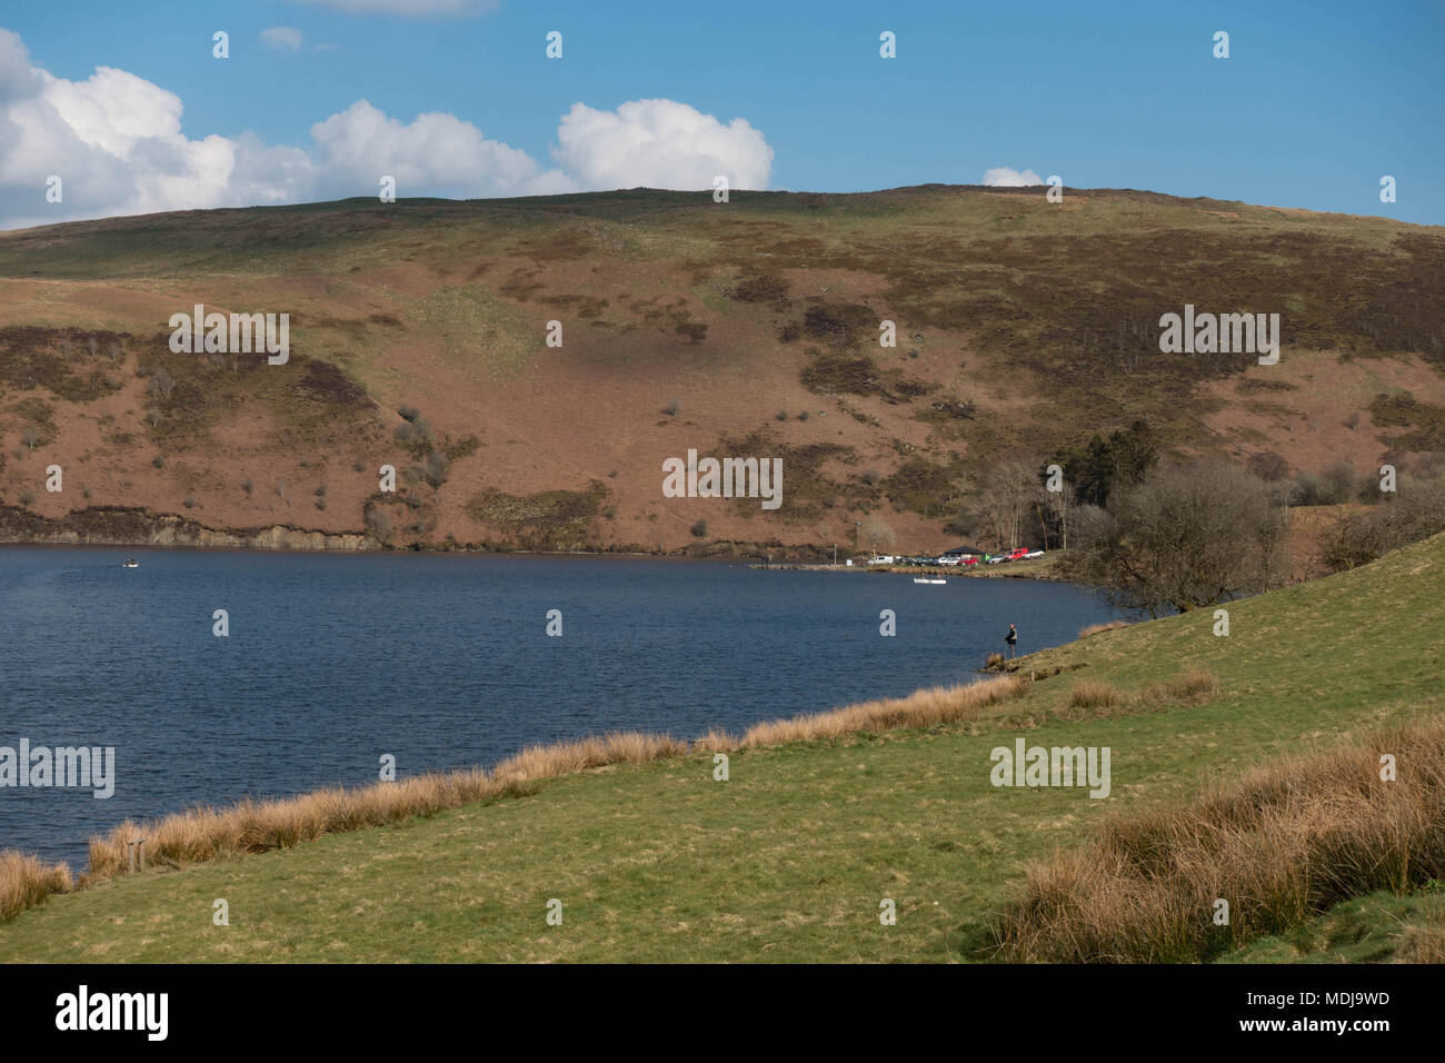
[[[1396,756],[1397,781],[1380,780],[1381,754]],[[1433,720],[1111,821],[1032,868],[994,933],[1013,960],[1196,962],[1342,900],[1442,876],[1445,720]],[[1215,898],[1230,902],[1228,926],[1212,923]]]

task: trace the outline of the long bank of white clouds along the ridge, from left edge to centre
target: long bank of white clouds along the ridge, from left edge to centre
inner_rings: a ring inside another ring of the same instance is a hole
[[[376,195],[549,195],[613,188],[766,188],[773,149],[743,119],[672,100],[616,111],[575,104],[561,119],[553,166],[488,139],[454,114],[390,117],[366,100],[311,127],[303,148],[253,135],[191,139],[182,101],[144,78],[100,67],[84,81],[33,67],[0,29],[0,229],[205,207],[249,207]],[[64,202],[45,200],[64,181]]]

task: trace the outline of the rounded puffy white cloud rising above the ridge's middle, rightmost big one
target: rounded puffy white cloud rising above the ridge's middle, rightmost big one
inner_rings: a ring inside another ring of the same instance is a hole
[[[634,100],[616,111],[572,104],[553,156],[585,188],[767,188],[773,149],[744,119],[722,124],[673,100]]]

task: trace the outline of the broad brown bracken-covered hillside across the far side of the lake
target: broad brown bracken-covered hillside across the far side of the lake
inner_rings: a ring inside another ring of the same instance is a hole
[[[874,512],[942,548],[967,477],[1134,418],[1166,450],[1295,469],[1445,450],[1441,291],[1438,227],[1107,189],[348,200],[0,233],[0,539],[340,537],[370,509],[390,545],[670,552],[850,544]],[[290,360],[171,353],[197,304],[288,312]],[[1185,304],[1279,312],[1279,364],[1162,354]],[[689,448],[782,457],[782,508],[663,498]]]

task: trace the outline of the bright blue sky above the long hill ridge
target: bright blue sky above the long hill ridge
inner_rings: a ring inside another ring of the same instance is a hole
[[[236,163],[244,181],[224,189],[192,174],[173,188],[158,178],[152,184],[168,191],[147,192],[144,163],[127,159],[129,176],[113,178],[142,191],[105,191],[104,158],[75,149],[64,156],[74,172],[68,217],[160,208],[168,195],[215,205],[204,200],[374,194],[373,171],[389,172],[396,165],[389,152],[403,150],[376,140],[376,123],[384,116],[405,126],[431,111],[523,152],[539,172],[513,159],[522,169],[512,184],[477,184],[419,159],[400,195],[655,184],[675,175],[675,184],[689,185],[694,171],[673,158],[683,149],[672,145],[663,161],[642,149],[614,158],[620,149],[608,137],[627,137],[631,126],[614,129],[594,114],[668,100],[720,123],[744,119],[754,132],[749,145],[766,142],[772,159],[740,172],[766,172],[772,188],[978,184],[984,171],[1007,166],[1058,174],[1071,187],[1445,224],[1445,204],[1431,187],[1445,171],[1442,3],[499,0],[442,16],[353,10],[428,1],[447,0],[62,0],[16,6],[0,14],[0,26],[19,36],[30,67],[53,78],[85,82],[97,67],[113,67],[179,97],[181,136],[192,143],[214,135],[316,156],[315,123],[358,100],[376,110],[370,126],[358,120],[338,132],[332,158],[293,182],[269,182],[282,156],[253,152]],[[299,30],[301,46],[264,43],[260,35],[272,27]],[[211,55],[217,29],[230,33],[225,61]],[[896,59],[879,56],[884,29],[897,35]],[[564,35],[561,61],[543,55],[549,30]],[[1230,33],[1228,59],[1212,56],[1215,30]],[[587,136],[559,161],[559,121],[577,103],[590,108],[579,123]],[[105,120],[121,124],[114,114]],[[448,126],[435,136],[462,133]],[[702,126],[696,140],[698,150],[712,150]],[[419,142],[429,145],[428,156],[439,143]],[[727,155],[741,142],[720,143],[715,150]],[[0,146],[0,220],[59,220],[43,204],[32,207],[39,169],[52,169],[46,162],[4,165]],[[299,156],[292,162],[311,166]],[[1394,204],[1379,197],[1386,174],[1397,181]],[[526,181],[533,184],[519,184]]]

